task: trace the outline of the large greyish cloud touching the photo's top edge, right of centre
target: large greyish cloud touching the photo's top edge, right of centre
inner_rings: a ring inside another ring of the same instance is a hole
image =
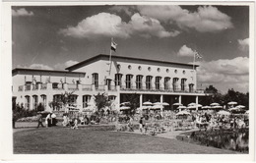
[[[138,9],[142,15],[200,32],[215,32],[233,27],[231,18],[213,6],[199,7],[196,12],[189,12],[180,6],[138,6]]]

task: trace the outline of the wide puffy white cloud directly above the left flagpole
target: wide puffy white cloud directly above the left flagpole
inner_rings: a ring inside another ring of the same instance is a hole
[[[66,36],[78,38],[94,38],[99,36],[128,38],[133,34],[162,38],[176,36],[180,33],[177,30],[166,31],[158,20],[141,16],[138,13],[134,14],[128,23],[123,22],[119,16],[114,14],[99,13],[86,18],[77,27],[67,27],[60,29],[59,32]]]

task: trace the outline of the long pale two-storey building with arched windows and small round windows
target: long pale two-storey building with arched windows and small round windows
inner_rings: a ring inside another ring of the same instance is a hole
[[[127,94],[136,93],[140,107],[146,101],[187,105],[206,96],[197,89],[198,65],[99,54],[65,71],[14,69],[13,98],[28,109],[48,103],[65,91],[73,91],[73,102],[86,108],[94,95],[105,92],[115,108]]]

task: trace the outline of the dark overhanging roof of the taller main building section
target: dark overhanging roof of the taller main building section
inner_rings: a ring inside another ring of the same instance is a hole
[[[191,66],[191,67],[193,67],[192,64],[184,64],[184,63],[177,63],[177,62],[168,62],[168,61],[160,61],[160,60],[152,60],[152,59],[144,59],[144,58],[124,57],[124,56],[116,56],[116,55],[112,55],[111,57],[115,58],[115,59],[136,60],[136,61],[139,60],[139,61],[154,62],[154,63],[161,63],[161,64],[172,64],[172,65],[181,65],[181,66]],[[69,71],[76,70],[76,69],[82,67],[83,65],[85,65],[87,63],[93,62],[94,60],[96,61],[96,60],[99,60],[99,59],[108,59],[108,58],[109,58],[109,55],[107,55],[107,54],[98,54],[95,57],[89,58],[89,59],[87,59],[85,61],[82,61],[78,64],[70,66],[70,67],[66,68],[65,70],[69,70]],[[194,67],[199,67],[199,65],[194,65]]]

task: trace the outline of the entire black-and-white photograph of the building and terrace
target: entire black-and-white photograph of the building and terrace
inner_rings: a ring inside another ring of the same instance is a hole
[[[252,159],[254,3],[21,4],[13,155]]]

